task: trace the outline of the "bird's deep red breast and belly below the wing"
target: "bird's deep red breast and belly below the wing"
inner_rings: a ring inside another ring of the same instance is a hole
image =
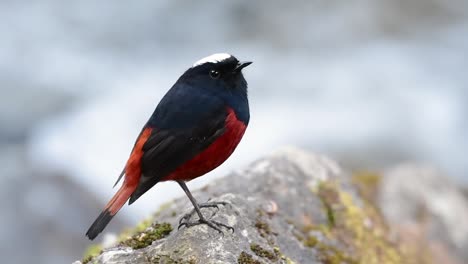
[[[208,173],[221,165],[234,152],[245,133],[246,125],[228,108],[225,132],[208,148],[187,161],[161,181],[188,181]]]

